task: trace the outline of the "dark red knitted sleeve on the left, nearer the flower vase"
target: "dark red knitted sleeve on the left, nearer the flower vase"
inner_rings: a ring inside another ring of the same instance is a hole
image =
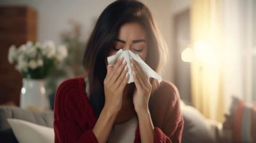
[[[81,94],[80,92],[73,80],[66,80],[58,87],[54,101],[55,142],[98,142],[92,129],[86,124],[81,128],[81,124],[77,121],[79,107],[77,107],[76,95]]]

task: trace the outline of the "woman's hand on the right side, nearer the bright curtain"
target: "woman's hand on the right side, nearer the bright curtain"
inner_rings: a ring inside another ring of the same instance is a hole
[[[149,79],[147,78],[147,75],[145,75],[141,69],[140,64],[138,64],[138,62],[134,59],[132,59],[131,62],[133,79],[136,86],[133,96],[134,108],[137,114],[146,113],[148,112],[148,101],[150,98],[152,86]]]

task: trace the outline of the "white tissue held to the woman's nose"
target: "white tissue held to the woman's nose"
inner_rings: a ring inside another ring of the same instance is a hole
[[[147,75],[148,79],[150,77],[157,79],[158,82],[161,82],[162,78],[159,74],[157,74],[154,70],[152,70],[141,58],[138,54],[135,54],[134,52],[132,52],[131,50],[118,50],[118,52],[116,52],[115,55],[113,56],[109,56],[108,57],[108,65],[114,65],[116,63],[117,59],[121,59],[122,57],[124,57],[124,61],[127,61],[127,68],[129,69],[128,74],[129,74],[129,80],[128,80],[128,84],[131,82],[134,82],[133,80],[133,75],[132,75],[132,70],[131,70],[131,62],[130,62],[130,57],[132,57],[134,60],[136,60],[138,62],[138,64],[140,64],[142,70],[145,72],[145,74]]]

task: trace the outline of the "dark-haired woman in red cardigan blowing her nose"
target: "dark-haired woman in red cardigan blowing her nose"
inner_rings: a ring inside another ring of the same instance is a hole
[[[106,57],[131,50],[156,72],[163,42],[148,8],[138,1],[115,1],[100,15],[86,45],[87,77],[58,87],[54,104],[55,142],[180,142],[183,118],[176,87],[148,79],[131,60],[108,66]],[[129,76],[134,82],[127,84]]]

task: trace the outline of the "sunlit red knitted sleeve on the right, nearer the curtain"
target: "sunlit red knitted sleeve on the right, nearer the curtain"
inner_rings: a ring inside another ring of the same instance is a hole
[[[152,96],[150,107],[154,121],[154,142],[181,142],[184,120],[177,87],[170,82],[164,82],[159,91]],[[136,142],[140,142],[140,131],[136,132],[136,136]]]

